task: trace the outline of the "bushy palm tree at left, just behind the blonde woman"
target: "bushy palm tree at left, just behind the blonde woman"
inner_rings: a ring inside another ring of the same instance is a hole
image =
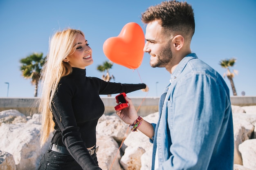
[[[25,79],[32,79],[31,84],[35,85],[34,97],[37,97],[37,88],[40,79],[40,72],[45,63],[43,53],[33,53],[20,60],[20,71]]]

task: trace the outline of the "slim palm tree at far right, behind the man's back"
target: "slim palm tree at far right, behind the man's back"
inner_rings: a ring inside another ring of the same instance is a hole
[[[233,70],[233,72],[231,72],[230,67],[233,67],[235,62],[236,62],[236,59],[231,58],[231,59],[227,59],[227,60],[221,60],[220,63],[219,63],[221,67],[227,68],[227,72],[224,73],[223,77],[225,77],[227,75],[227,78],[229,79],[229,81],[231,83],[231,88],[232,88],[234,96],[236,96],[237,94],[236,94],[236,88],[235,88],[235,85],[234,85],[233,78],[235,77],[235,74],[236,75],[238,74],[238,71]]]

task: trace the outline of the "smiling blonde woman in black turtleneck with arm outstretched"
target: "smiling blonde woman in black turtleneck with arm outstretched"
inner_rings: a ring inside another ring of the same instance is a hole
[[[101,170],[97,161],[96,125],[104,105],[99,95],[148,91],[146,84],[120,84],[86,77],[92,49],[82,31],[55,33],[42,71],[41,146],[56,130],[38,170]]]

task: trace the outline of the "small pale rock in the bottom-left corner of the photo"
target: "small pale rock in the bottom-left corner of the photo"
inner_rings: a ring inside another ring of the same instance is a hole
[[[0,170],[16,170],[13,155],[0,150]]]

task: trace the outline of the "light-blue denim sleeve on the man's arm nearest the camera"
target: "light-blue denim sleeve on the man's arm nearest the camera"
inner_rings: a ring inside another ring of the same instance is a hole
[[[171,155],[158,170],[206,170],[218,147],[227,94],[206,74],[191,73],[176,83],[167,104]]]

